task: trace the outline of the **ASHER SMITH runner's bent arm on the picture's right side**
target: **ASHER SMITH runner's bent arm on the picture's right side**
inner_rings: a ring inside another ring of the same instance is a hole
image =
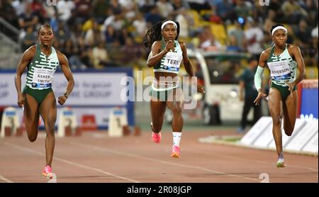
[[[65,57],[65,55],[62,54],[62,52],[57,51],[57,58],[59,59],[62,72],[63,74],[65,74],[65,78],[67,79],[67,89],[65,91],[65,94],[63,94],[63,96],[59,96],[57,100],[60,103],[60,105],[63,105],[69,97],[69,94],[71,94],[73,90],[74,79],[71,69],[69,69],[69,62],[67,61],[67,57]]]

